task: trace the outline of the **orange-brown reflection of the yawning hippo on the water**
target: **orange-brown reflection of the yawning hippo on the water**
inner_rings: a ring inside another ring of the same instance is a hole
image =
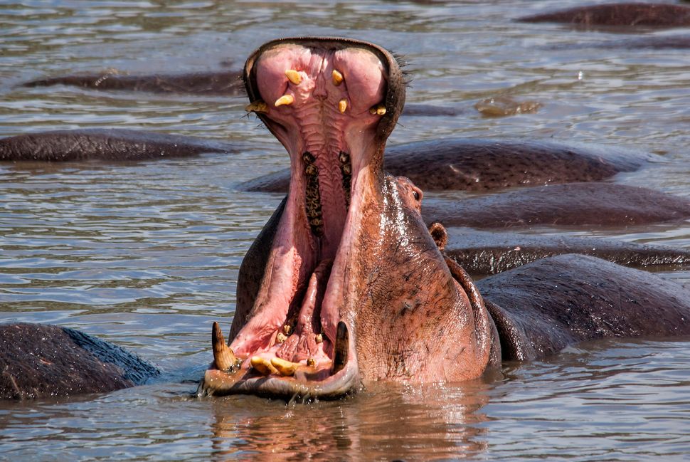
[[[288,404],[281,409],[256,398],[216,400],[213,458],[222,461],[240,454],[266,461],[304,461],[329,454],[351,460],[362,455],[369,460],[475,456],[487,446],[485,429],[476,425],[487,419],[481,411],[487,387],[381,386],[346,401]]]

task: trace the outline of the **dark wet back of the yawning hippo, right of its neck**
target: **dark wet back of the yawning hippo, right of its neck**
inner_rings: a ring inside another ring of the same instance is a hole
[[[690,335],[689,290],[599,258],[544,258],[477,286],[503,359],[535,359],[597,338]]]

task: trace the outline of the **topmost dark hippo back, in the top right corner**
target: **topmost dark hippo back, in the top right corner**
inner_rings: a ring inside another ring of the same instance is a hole
[[[690,25],[690,7],[645,3],[589,5],[525,16],[518,21],[570,23],[581,26],[683,27]]]

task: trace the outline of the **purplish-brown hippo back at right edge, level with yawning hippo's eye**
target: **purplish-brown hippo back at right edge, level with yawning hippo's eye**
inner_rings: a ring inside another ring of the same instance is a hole
[[[470,228],[635,226],[690,218],[690,201],[613,183],[552,184],[462,200],[425,201],[427,223]]]

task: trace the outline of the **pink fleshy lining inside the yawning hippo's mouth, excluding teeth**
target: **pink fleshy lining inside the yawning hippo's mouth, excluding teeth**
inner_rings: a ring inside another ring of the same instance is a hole
[[[297,71],[299,83],[289,80],[286,70]],[[334,70],[343,76],[342,82],[334,81]],[[359,224],[356,214],[363,194],[356,186],[376,151],[373,134],[381,116],[370,109],[383,103],[386,77],[380,59],[364,48],[290,43],[262,53],[255,73],[267,104],[267,125],[290,153],[292,175],[255,315],[230,347],[245,359],[280,357],[301,364],[314,359],[317,370],[325,372],[343,316],[352,227]],[[284,95],[292,101],[275,106]],[[314,233],[305,211],[305,152],[318,169],[322,233]],[[344,187],[341,153],[350,158],[351,196]],[[294,325],[294,333],[282,340],[286,324]],[[317,342],[321,332],[322,342]],[[247,360],[243,368],[248,367]]]

